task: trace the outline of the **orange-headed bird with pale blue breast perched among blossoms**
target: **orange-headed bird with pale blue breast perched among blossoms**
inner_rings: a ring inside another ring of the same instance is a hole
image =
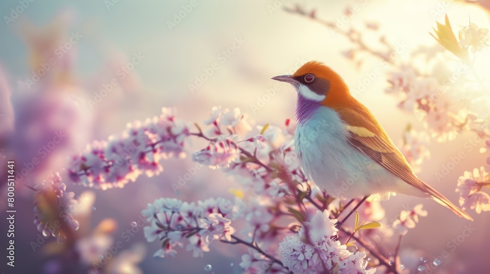
[[[417,177],[378,120],[332,68],[311,61],[292,75],[271,79],[296,89],[296,156],[308,178],[331,197],[363,198],[354,210],[365,200],[388,200],[396,194],[431,198],[473,221]]]

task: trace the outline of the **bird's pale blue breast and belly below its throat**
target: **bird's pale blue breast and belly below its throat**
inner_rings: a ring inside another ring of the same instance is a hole
[[[352,146],[343,125],[338,114],[324,106],[313,110],[308,119],[298,121],[294,145],[305,173],[336,198],[377,193],[379,199],[388,198],[398,180]],[[393,180],[383,183],[386,179]]]

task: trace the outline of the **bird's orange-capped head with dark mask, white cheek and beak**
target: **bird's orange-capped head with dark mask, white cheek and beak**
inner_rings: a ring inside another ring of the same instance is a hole
[[[272,79],[292,84],[298,92],[298,98],[327,106],[350,97],[349,89],[342,77],[318,61],[304,64],[293,75],[281,75]]]

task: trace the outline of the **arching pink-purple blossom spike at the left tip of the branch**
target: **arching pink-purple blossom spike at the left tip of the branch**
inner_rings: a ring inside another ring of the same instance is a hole
[[[138,176],[158,175],[161,158],[184,155],[184,140],[189,128],[175,121],[171,109],[144,123],[128,124],[120,137],[94,141],[70,163],[70,179],[86,186],[107,189],[123,187]]]

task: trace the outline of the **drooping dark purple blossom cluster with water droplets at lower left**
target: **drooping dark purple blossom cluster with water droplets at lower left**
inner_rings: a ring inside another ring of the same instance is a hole
[[[66,192],[66,185],[61,183],[59,173],[51,174],[49,180],[36,185],[34,200],[34,225],[43,236],[56,237],[58,243],[64,243],[73,230],[79,228],[72,213],[77,201],[73,192]]]

